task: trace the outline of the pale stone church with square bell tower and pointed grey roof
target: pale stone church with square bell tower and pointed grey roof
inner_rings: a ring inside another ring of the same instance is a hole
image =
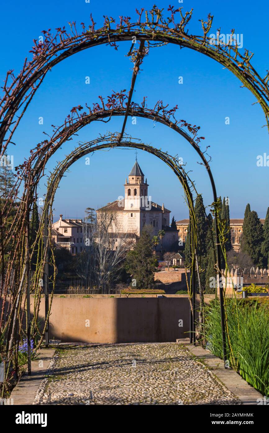
[[[169,209],[164,204],[159,205],[152,201],[148,195],[149,184],[144,179],[144,174],[136,161],[132,170],[126,178],[124,197],[106,204],[96,210],[97,219],[101,212],[113,212],[116,215],[118,230],[122,233],[133,233],[139,238],[145,225],[152,226],[152,235],[157,236],[159,230],[165,230],[162,239],[162,247],[165,251],[170,251],[172,245],[178,242],[178,231],[172,229],[170,224]],[[161,245],[157,246],[157,251]]]

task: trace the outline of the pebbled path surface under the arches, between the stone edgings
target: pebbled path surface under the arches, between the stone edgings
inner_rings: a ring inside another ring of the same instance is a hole
[[[240,404],[177,343],[58,349],[33,404]]]

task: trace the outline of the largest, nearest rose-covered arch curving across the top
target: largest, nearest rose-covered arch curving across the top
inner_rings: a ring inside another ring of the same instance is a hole
[[[185,29],[192,17],[193,9],[184,15],[182,7],[174,9],[174,6],[170,6],[168,11],[171,15],[165,18],[163,9],[159,9],[157,6],[153,6],[150,11],[144,11],[143,8],[141,11],[136,10],[138,19],[134,23],[130,22],[130,17],[120,16],[120,21],[116,24],[115,19],[106,16],[104,25],[100,29],[95,29],[96,23],[91,16],[92,24],[89,29],[86,29],[84,23],[81,23],[81,34],[76,29],[74,22],[70,23],[69,34],[64,27],[63,29],[56,29],[56,35],[51,34],[51,29],[42,31],[43,42],[37,43],[37,40],[34,40],[35,45],[31,50],[32,61],[25,59],[22,70],[17,77],[13,75],[12,70],[8,71],[6,75],[3,86],[5,96],[0,104],[1,155],[11,141],[13,132],[48,71],[60,61],[77,52],[103,44],[109,44],[117,49],[116,42],[122,41],[140,41],[139,49],[134,47],[135,43],[130,48],[128,54],[132,60],[137,60],[139,50],[143,57],[148,53],[149,48],[171,43],[179,45],[180,48],[193,49],[218,61],[240,79],[242,87],[248,88],[253,93],[263,109],[266,125],[269,128],[269,71],[267,71],[265,78],[261,78],[250,63],[253,53],[245,50],[244,55],[242,55],[238,51],[237,44],[232,45],[230,42],[228,44],[212,44],[209,35],[213,20],[211,14],[208,15],[206,21],[201,19],[203,35],[195,36],[188,34],[188,30]],[[180,14],[180,21],[176,22],[175,17],[178,14]],[[145,20],[143,21],[144,16]],[[116,26],[113,28],[114,24]],[[231,30],[231,38],[233,36],[234,29]],[[145,42],[147,47],[144,46]],[[9,83],[9,81],[11,82]],[[19,109],[22,110],[22,113],[13,124],[13,118]],[[11,126],[12,129],[10,129]],[[8,131],[10,135],[4,142]]]

